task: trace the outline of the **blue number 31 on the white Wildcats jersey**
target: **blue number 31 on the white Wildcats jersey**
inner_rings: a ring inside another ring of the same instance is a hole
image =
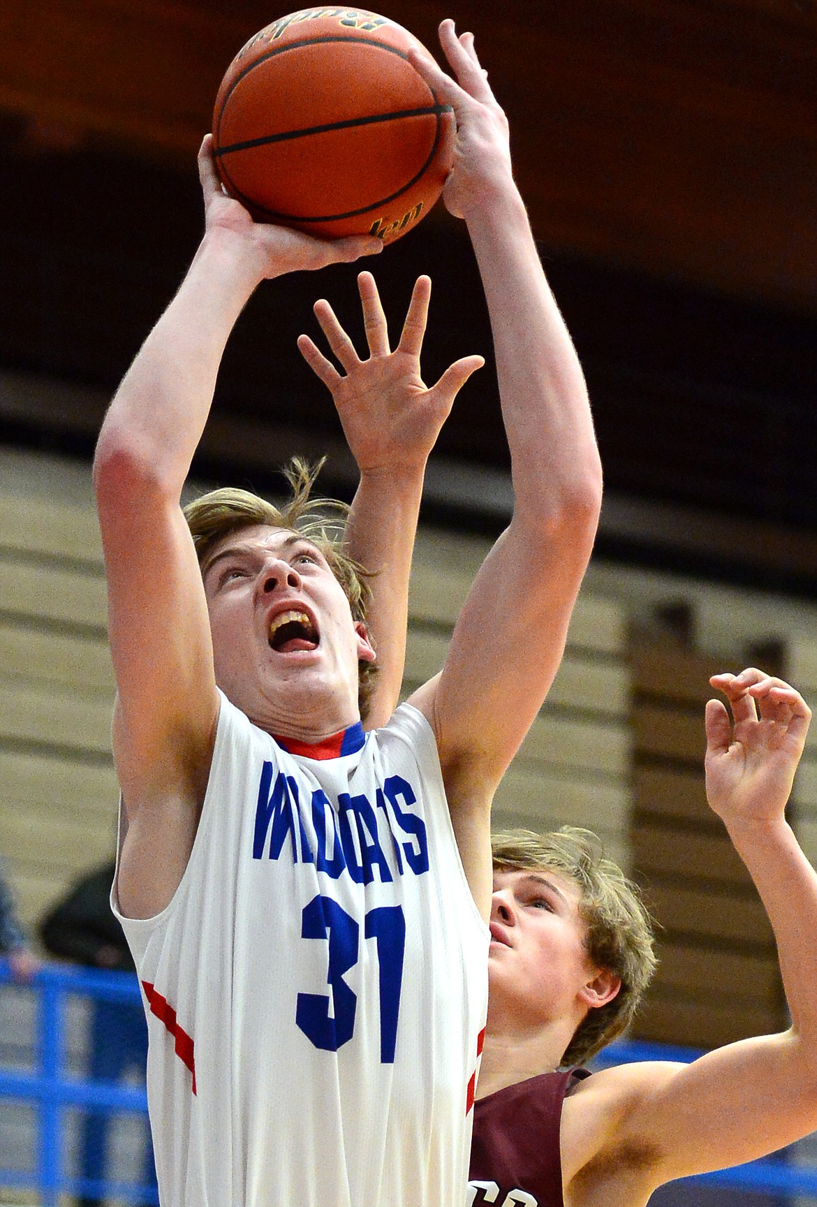
[[[357,963],[360,927],[345,909],[321,893],[313,897],[304,906],[300,934],[304,939],[328,941],[326,981],[332,990],[332,997],[329,998],[328,993],[298,993],[296,1022],[316,1048],[337,1053],[338,1048],[349,1043],[355,1031],[357,995],[343,978]],[[402,905],[381,905],[379,909],[369,910],[363,934],[364,938],[375,940],[378,952],[380,1062],[393,1065],[405,950],[405,919]]]

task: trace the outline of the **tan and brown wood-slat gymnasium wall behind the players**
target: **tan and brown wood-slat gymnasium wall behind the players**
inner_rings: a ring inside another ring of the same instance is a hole
[[[488,546],[420,532],[407,693],[442,664]],[[769,925],[701,777],[708,675],[758,646],[817,699],[817,606],[594,562],[497,793],[497,826],[590,826],[643,884],[661,925],[647,1038],[707,1045],[784,1025]],[[0,853],[29,926],[113,849],[112,696],[88,470],[0,453]],[[793,820],[817,859],[817,731]]]

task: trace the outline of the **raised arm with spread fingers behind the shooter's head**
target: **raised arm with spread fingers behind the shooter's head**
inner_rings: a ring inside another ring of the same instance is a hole
[[[393,351],[370,273],[360,274],[358,287],[369,352],[366,360],[358,357],[323,299],[315,303],[315,314],[343,374],[308,336],[300,337],[298,346],[332,392],[361,473],[346,524],[346,548],[373,573],[368,629],[379,675],[366,724],[375,729],[393,712],[403,678],[412,552],[428,454],[454,398],[484,360],[466,356],[455,361],[436,385],[426,387],[420,352],[431,297],[428,278],[420,276],[414,286]]]

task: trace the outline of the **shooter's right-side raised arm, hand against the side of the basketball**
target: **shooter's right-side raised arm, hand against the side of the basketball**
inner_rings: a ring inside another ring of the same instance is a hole
[[[459,619],[442,677],[415,702],[436,728],[453,815],[477,809],[486,816],[562,655],[596,531],[601,466],[582,369],[513,180],[507,121],[472,36],[457,39],[444,22],[440,41],[456,82],[410,57],[456,116],[444,198],[468,226],[485,288],[515,503]]]

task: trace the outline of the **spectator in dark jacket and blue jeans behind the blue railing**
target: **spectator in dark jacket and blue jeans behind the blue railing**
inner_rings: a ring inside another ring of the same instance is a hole
[[[40,923],[40,935],[54,956],[89,968],[135,972],[122,927],[111,912],[110,896],[115,863],[104,864],[77,880]],[[91,1014],[91,1061],[94,1081],[118,1081],[136,1069],[145,1077],[147,1025],[139,998],[107,1002],[95,998]],[[81,1177],[101,1180],[107,1165],[110,1115],[89,1110],[82,1129]],[[146,1186],[156,1191],[156,1170],[150,1131],[146,1139]],[[153,1197],[156,1202],[156,1196]],[[82,1197],[78,1207],[98,1207],[100,1200]]]

